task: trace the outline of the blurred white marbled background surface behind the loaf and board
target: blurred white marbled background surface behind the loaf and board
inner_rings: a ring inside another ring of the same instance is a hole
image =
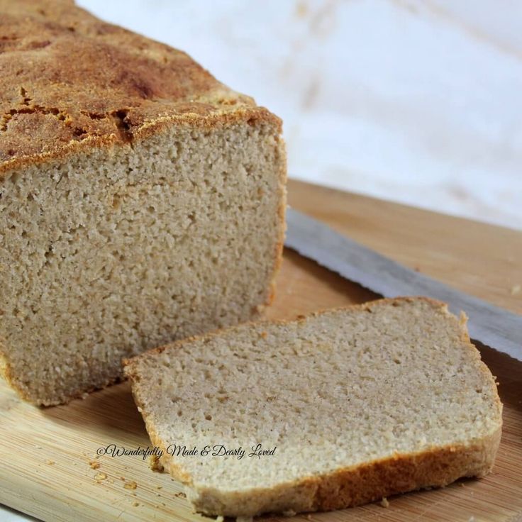
[[[522,229],[522,2],[79,4],[282,116],[293,177]]]

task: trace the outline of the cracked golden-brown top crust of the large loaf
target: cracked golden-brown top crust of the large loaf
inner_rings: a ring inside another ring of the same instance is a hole
[[[165,124],[279,118],[187,54],[70,0],[0,0],[0,174]]]

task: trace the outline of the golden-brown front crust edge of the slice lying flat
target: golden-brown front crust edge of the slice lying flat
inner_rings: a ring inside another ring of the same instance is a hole
[[[443,487],[461,477],[483,477],[492,469],[500,436],[501,427],[467,445],[448,445],[416,453],[397,454],[279,484],[277,491],[252,490],[245,493],[244,501],[250,507],[252,504],[257,506],[258,511],[250,514],[273,511],[273,503],[280,501],[282,496],[288,499],[292,511],[331,511],[426,487]],[[183,481],[175,472],[172,476]],[[184,482],[190,487],[188,480]],[[252,498],[257,501],[251,502]],[[196,510],[206,515],[235,516],[234,511],[223,511],[222,506],[226,504],[219,492],[214,490],[199,492],[193,500]]]

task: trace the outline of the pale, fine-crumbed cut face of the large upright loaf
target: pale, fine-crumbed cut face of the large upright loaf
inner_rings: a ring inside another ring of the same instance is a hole
[[[56,404],[121,358],[245,321],[282,246],[277,134],[171,128],[0,185],[1,351],[11,384]]]

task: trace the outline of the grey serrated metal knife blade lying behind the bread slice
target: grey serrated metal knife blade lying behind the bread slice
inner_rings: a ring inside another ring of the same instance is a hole
[[[465,311],[471,338],[522,360],[522,316],[399,265],[294,209],[287,210],[284,245],[384,297],[428,296],[457,316]]]

